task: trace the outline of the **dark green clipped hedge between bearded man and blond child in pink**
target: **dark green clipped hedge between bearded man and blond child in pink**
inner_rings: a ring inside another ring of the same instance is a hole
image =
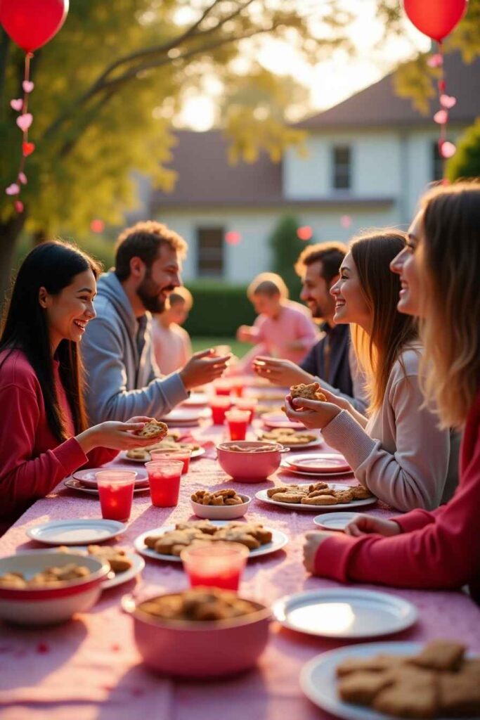
[[[194,306],[184,325],[191,336],[231,338],[239,325],[255,320],[246,285],[230,285],[213,280],[186,282],[194,296]]]

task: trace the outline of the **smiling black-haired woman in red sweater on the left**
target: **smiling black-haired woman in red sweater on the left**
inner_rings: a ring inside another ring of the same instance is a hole
[[[99,272],[60,242],[42,243],[19,269],[0,336],[0,534],[74,470],[149,444],[133,433],[150,418],[88,427],[78,343]]]

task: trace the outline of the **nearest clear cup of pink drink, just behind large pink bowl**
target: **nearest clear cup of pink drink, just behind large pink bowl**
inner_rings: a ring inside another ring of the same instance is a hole
[[[192,588],[238,590],[249,552],[240,543],[219,541],[186,547],[180,557]]]

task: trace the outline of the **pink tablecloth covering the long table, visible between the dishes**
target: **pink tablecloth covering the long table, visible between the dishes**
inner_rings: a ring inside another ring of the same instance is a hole
[[[196,431],[214,437],[213,428]],[[207,454],[208,455],[208,454]],[[119,539],[131,546],[142,532],[191,517],[189,495],[202,487],[235,487],[254,495],[273,481],[293,480],[283,472],[269,482],[245,485],[228,480],[208,456],[191,463],[177,508],[150,505],[147,494],[136,495],[132,519]],[[320,512],[320,510],[319,510]],[[368,512],[388,514],[374,506]],[[314,529],[315,513],[273,508],[254,501],[248,519],[264,521],[288,534],[289,544],[275,554],[250,561],[241,593],[271,603],[289,593],[326,588],[334,582],[310,577],[302,564],[302,536]],[[25,530],[37,523],[63,518],[99,517],[99,501],[68,491],[60,484],[39,500],[0,541],[1,555],[38,547]],[[314,655],[340,642],[303,636],[272,625],[271,639],[255,670],[230,680],[185,682],[157,678],[140,663],[130,618],[119,601],[126,592],[153,593],[186,588],[178,564],[148,560],[141,580],[103,593],[96,607],[63,626],[20,629],[0,626],[0,715],[2,720],[295,720],[329,718],[303,696],[299,672]],[[461,592],[386,590],[410,600],[419,613],[417,624],[391,639],[423,641],[455,637],[480,652],[480,612]]]

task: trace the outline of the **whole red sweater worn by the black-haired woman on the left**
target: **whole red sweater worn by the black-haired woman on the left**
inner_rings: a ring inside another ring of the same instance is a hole
[[[6,351],[0,354],[1,361]],[[68,433],[75,434],[73,418],[53,361],[58,401]],[[98,467],[117,456],[116,450],[96,448],[86,455],[74,437],[58,444],[47,423],[42,388],[35,370],[20,351],[0,367],[0,534],[37,498],[79,467]]]

